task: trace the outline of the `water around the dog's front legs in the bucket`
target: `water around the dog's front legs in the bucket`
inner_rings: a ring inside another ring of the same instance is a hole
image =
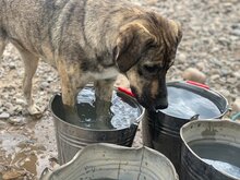
[[[84,87],[77,95],[77,115],[65,113],[65,121],[87,129],[123,129],[129,128],[141,115],[140,108],[131,100],[113,92],[111,107],[105,121],[96,115],[95,91],[92,86]]]

